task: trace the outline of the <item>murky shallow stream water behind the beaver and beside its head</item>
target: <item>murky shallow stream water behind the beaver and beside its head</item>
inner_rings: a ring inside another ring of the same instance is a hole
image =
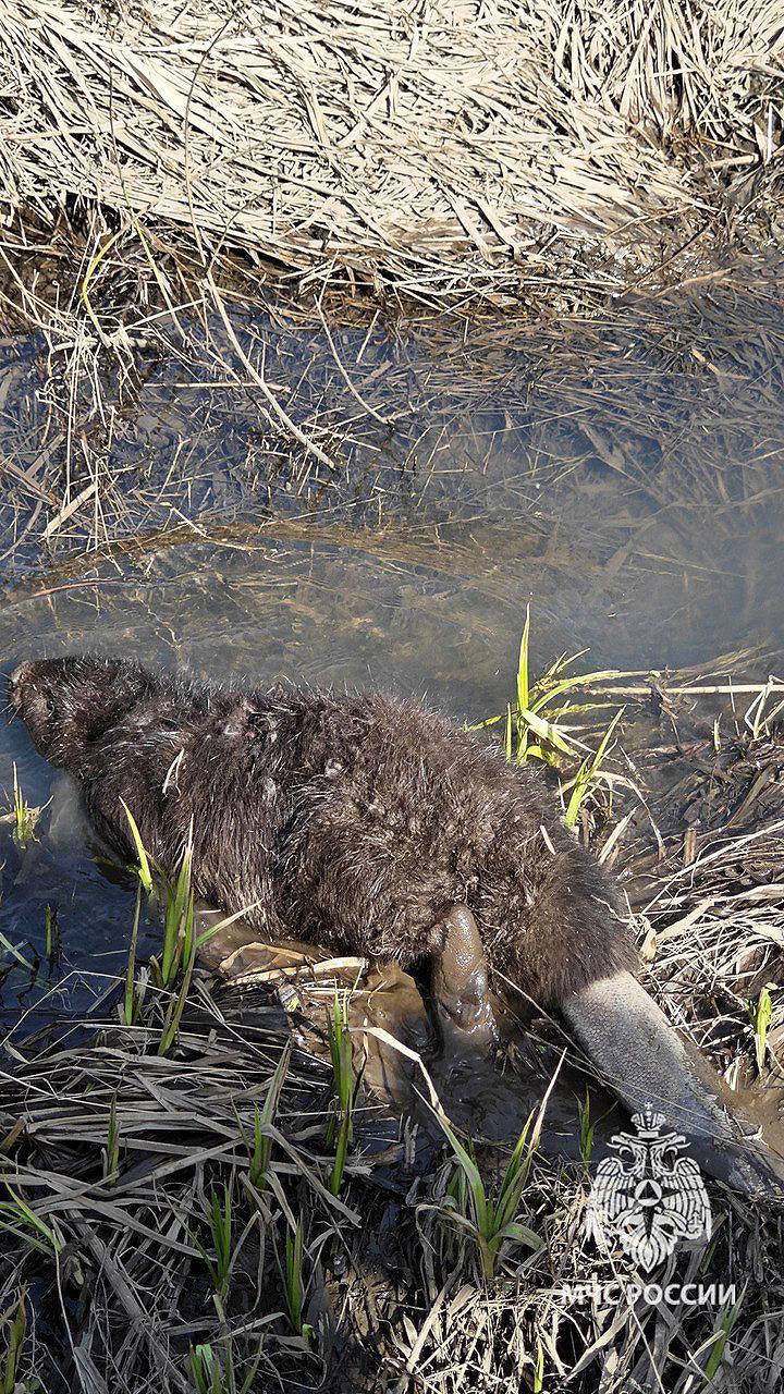
[[[534,666],[589,648],[591,668],[709,669],[744,651],[764,676],[784,648],[780,284],[777,269],[727,272],[596,325],[470,335],[239,315],[244,351],[258,361],[264,342],[266,381],[331,467],[290,449],[218,330],[194,333],[190,357],[162,344],[105,411],[107,436],[93,421],[84,438],[103,470],[84,507],[35,514],[6,477],[0,654],[377,684],[477,719],[506,704],[530,602]],[[57,371],[38,339],[6,340],[0,435],[22,471],[52,435]],[[66,468],[75,498],[78,450]],[[18,1036],[100,1012],[131,902],[18,725],[0,728],[6,809],[14,767],[43,807],[24,852],[0,824]]]

